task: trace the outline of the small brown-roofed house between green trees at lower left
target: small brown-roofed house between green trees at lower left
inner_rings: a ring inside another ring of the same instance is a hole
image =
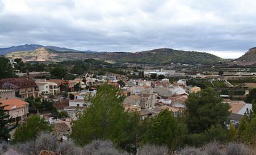
[[[54,123],[53,124],[54,131],[56,132],[57,139],[61,141],[62,139],[67,139],[70,134],[71,129],[67,126],[66,123]]]

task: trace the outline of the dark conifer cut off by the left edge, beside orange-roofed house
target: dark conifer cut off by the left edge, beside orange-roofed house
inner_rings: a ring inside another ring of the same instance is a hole
[[[10,138],[9,128],[7,124],[9,123],[9,115],[7,115],[4,106],[0,103],[0,141],[7,141]]]

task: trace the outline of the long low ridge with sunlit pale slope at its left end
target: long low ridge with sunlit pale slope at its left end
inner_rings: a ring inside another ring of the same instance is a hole
[[[217,63],[221,59],[204,52],[190,52],[174,49],[154,49],[143,52],[59,52],[57,50],[41,47],[32,51],[11,52],[6,55],[11,59],[21,58],[26,61],[63,61],[97,59],[108,60],[116,63],[146,63],[146,64],[169,64],[169,63]]]

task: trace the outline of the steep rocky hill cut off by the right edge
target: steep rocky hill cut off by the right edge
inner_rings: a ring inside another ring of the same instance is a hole
[[[256,63],[256,47],[249,49],[242,57],[234,61],[240,65],[254,65]]]

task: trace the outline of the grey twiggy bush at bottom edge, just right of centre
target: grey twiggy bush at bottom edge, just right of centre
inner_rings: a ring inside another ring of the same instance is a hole
[[[162,154],[168,154],[167,147],[145,144],[139,150],[139,155],[162,155]]]

